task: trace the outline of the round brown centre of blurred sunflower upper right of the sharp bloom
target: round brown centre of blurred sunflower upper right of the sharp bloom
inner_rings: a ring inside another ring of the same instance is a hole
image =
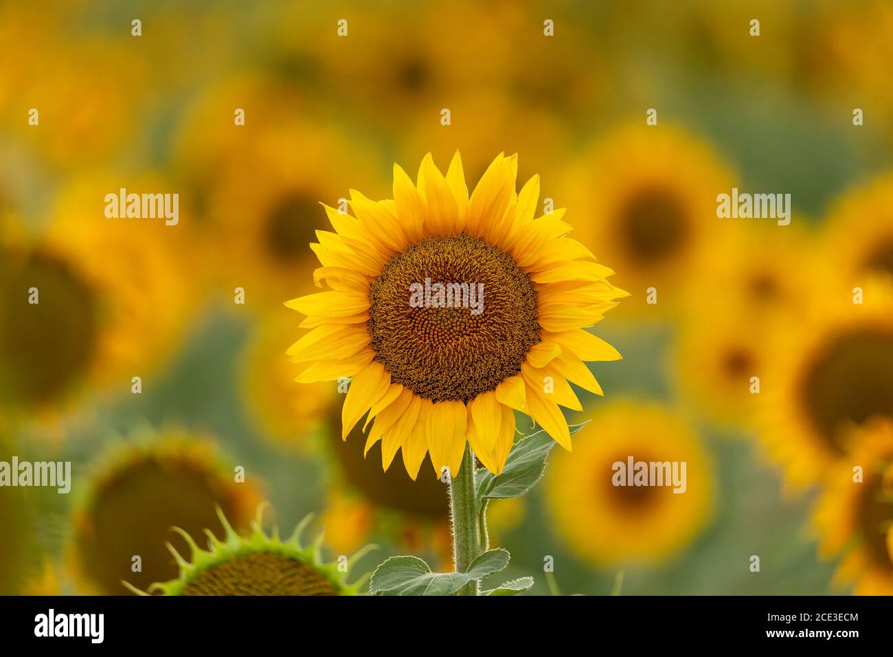
[[[654,265],[669,257],[689,234],[685,209],[665,190],[641,190],[626,202],[620,231],[630,255]]]

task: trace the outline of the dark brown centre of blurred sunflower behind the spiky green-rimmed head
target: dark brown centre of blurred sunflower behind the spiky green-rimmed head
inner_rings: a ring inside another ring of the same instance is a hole
[[[111,595],[126,594],[121,580],[146,590],[153,582],[177,577],[177,564],[164,543],[182,555],[188,555],[189,548],[171,527],[190,536],[204,535],[204,529],[211,527],[222,538],[215,503],[237,531],[245,528],[246,518],[239,518],[225,480],[196,464],[149,458],[121,469],[97,493],[87,524],[76,536],[84,574],[102,593]],[[142,561],[139,572],[131,571],[135,554]]]

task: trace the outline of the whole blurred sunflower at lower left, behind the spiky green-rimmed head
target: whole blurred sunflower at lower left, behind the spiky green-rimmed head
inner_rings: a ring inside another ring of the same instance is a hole
[[[72,572],[81,590],[95,594],[124,594],[121,580],[145,589],[172,579],[178,569],[165,543],[188,548],[172,526],[190,535],[211,527],[221,536],[214,505],[245,529],[259,501],[251,477],[237,483],[207,437],[177,429],[139,435],[100,458],[72,511]]]

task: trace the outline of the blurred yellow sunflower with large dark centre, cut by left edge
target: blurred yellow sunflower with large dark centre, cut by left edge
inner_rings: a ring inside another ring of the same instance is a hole
[[[90,384],[129,390],[177,345],[190,285],[174,229],[105,218],[104,196],[117,187],[78,178],[39,239],[21,227],[0,235],[4,406],[53,414]]]

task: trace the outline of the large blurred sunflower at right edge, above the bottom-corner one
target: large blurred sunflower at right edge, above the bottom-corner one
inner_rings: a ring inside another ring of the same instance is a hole
[[[761,392],[761,440],[794,489],[847,454],[854,425],[893,418],[893,285],[866,279],[858,304],[846,286],[821,281],[773,346]]]

